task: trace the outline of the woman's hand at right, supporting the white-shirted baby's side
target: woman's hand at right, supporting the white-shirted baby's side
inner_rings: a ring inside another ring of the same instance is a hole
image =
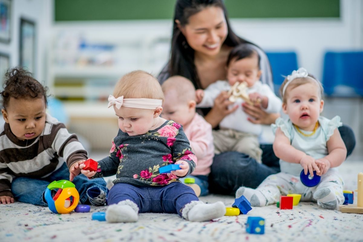
[[[280,114],[269,114],[261,109],[260,104],[250,105],[246,102],[242,103],[243,111],[251,116],[248,121],[255,124],[272,124],[280,117]]]

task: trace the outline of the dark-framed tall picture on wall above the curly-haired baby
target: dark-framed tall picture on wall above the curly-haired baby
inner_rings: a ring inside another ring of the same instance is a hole
[[[19,64],[34,74],[36,60],[36,26],[35,22],[20,19]]]

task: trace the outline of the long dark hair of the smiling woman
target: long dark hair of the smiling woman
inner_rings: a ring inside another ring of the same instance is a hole
[[[248,41],[238,37],[231,29],[227,10],[222,0],[177,0],[174,12],[174,26],[171,38],[171,59],[168,66],[170,76],[181,75],[191,80],[196,89],[201,88],[200,80],[194,64],[194,50],[188,46],[185,36],[181,33],[175,20],[180,21],[180,25],[188,24],[189,17],[202,11],[206,7],[219,7],[223,9],[227,22],[228,34],[223,44],[236,46]]]

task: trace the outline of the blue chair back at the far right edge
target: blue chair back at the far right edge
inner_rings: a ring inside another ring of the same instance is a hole
[[[363,96],[363,51],[326,52],[323,67],[326,95]]]

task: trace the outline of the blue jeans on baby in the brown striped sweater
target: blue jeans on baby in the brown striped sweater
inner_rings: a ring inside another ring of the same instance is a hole
[[[40,206],[48,206],[44,199],[44,192],[52,181],[69,180],[69,169],[64,163],[61,168],[53,172],[50,176],[35,179],[29,177],[17,177],[11,183],[11,192],[15,200]],[[89,180],[85,175],[78,175],[72,181],[79,193],[81,204],[90,204],[87,197],[87,190],[98,187],[107,193],[106,181],[103,178]]]

